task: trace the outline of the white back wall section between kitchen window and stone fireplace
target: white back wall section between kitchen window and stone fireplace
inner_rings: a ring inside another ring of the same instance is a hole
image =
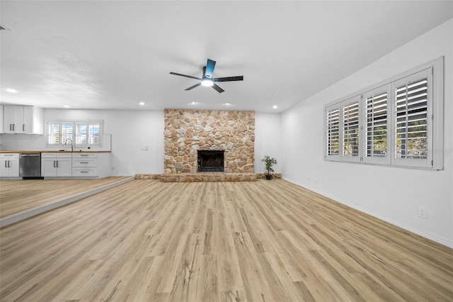
[[[112,135],[112,176],[164,173],[164,112],[45,109],[44,119],[101,119]],[[148,150],[144,149],[148,146]]]

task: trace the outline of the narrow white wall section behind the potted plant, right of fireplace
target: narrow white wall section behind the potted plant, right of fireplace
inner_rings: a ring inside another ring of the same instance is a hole
[[[265,155],[275,157],[275,173],[280,173],[282,163],[282,116],[276,113],[255,113],[255,172],[264,173]]]

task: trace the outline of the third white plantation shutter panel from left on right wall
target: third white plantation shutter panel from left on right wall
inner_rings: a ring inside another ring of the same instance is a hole
[[[365,102],[365,152],[364,162],[389,164],[389,97],[390,85],[364,94]]]

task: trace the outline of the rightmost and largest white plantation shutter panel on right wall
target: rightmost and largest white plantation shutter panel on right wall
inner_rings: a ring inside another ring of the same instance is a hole
[[[395,164],[430,167],[430,69],[394,82]]]

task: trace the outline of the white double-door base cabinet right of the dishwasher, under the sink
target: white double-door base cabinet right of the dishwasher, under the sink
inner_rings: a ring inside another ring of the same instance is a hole
[[[41,153],[42,177],[71,177],[71,153]]]

